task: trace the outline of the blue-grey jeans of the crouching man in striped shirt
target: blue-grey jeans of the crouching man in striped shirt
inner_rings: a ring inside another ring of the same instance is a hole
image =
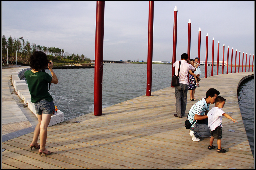
[[[194,127],[191,127],[190,130],[194,131],[196,138],[207,138],[211,136],[211,130],[208,127],[208,118],[197,120]]]

